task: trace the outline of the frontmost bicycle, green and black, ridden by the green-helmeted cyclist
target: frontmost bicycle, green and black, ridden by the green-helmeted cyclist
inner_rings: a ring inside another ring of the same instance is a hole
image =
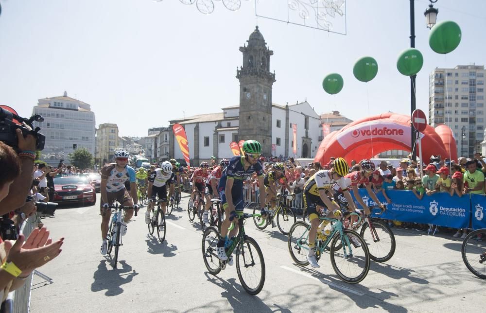
[[[253,238],[245,234],[243,226],[244,220],[254,217],[255,214],[238,211],[236,214],[238,220],[233,221],[228,230],[231,231],[234,228],[235,222],[238,222],[239,230],[236,237],[226,242],[226,256],[229,260],[233,251],[236,250],[236,272],[243,289],[250,295],[257,295],[265,283],[265,261],[263,260],[260,246]],[[203,260],[209,273],[215,276],[221,270],[226,269],[227,265],[227,261],[221,261],[216,253],[216,246],[220,239],[222,237],[216,227],[209,226],[204,231],[202,242]]]

